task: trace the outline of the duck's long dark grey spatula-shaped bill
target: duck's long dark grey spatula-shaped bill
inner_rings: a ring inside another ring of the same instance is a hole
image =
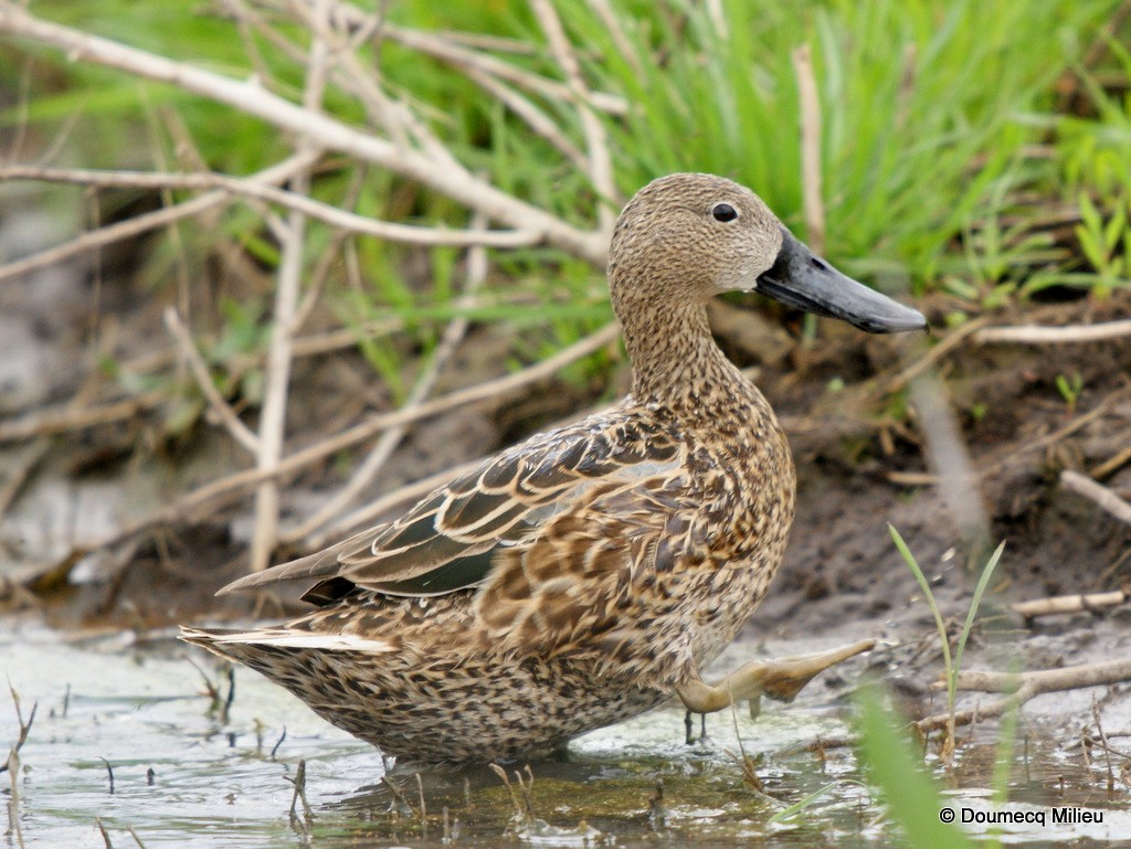
[[[788,306],[843,319],[870,333],[926,327],[926,319],[917,310],[840,274],[785,227],[777,261],[758,278],[758,291]]]

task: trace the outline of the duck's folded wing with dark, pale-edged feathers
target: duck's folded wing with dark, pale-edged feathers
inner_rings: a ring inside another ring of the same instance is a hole
[[[221,592],[300,583],[303,598],[325,604],[355,588],[437,596],[474,587],[487,578],[500,548],[536,536],[584,492],[677,467],[684,453],[672,426],[639,409],[590,416],[497,454],[394,522],[241,578]]]

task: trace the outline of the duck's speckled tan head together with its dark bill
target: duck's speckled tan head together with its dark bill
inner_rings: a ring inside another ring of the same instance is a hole
[[[613,231],[608,275],[622,323],[657,302],[756,291],[873,333],[926,327],[817,257],[752,191],[711,174],[671,174],[638,191]]]

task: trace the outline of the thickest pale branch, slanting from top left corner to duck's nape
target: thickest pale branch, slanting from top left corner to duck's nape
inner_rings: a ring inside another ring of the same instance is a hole
[[[406,150],[320,112],[275,95],[254,80],[235,80],[202,68],[53,24],[37,18],[10,0],[0,0],[0,33],[29,38],[66,52],[75,61],[93,62],[224,103],[309,144],[340,150],[388,168],[400,176],[478,210],[493,220],[532,229],[546,242],[604,268],[608,244],[602,232],[580,231],[554,215],[501,191],[472,175],[417,150]],[[392,27],[387,27],[391,37]]]

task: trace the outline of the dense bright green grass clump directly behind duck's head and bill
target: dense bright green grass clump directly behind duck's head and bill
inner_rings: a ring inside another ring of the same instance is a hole
[[[624,191],[667,171],[698,168],[754,187],[786,220],[800,219],[797,86],[791,52],[813,50],[823,122],[828,252],[861,274],[923,292],[972,222],[1004,208],[1008,192],[1055,181],[1024,161],[1042,130],[1052,86],[1112,3],[727,2],[727,36],[702,7],[676,29],[639,20],[636,75],[616,61],[580,0],[566,3],[605,60],[602,87],[639,106],[619,130]],[[654,45],[664,68],[646,62]]]

